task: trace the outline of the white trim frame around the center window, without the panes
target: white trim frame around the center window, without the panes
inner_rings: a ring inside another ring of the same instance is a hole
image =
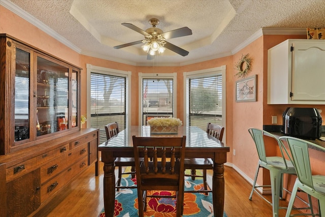
[[[139,125],[144,124],[142,123],[142,118],[143,118],[143,79],[173,79],[173,117],[177,117],[177,73],[142,73],[139,72]]]

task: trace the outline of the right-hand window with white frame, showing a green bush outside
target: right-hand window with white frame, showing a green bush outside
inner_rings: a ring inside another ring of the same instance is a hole
[[[212,122],[225,127],[224,73],[225,67],[219,67],[184,74],[187,126],[206,130]]]

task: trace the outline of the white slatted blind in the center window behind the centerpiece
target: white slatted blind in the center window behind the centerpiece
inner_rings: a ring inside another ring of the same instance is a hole
[[[172,78],[143,78],[142,80],[142,120],[152,117],[173,117],[174,80]]]

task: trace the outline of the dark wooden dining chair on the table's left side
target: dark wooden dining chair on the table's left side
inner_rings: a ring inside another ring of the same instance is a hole
[[[105,126],[105,131],[106,131],[107,140],[116,136],[119,133],[118,123],[117,122],[108,123],[108,125]],[[121,179],[123,174],[131,174],[132,178],[135,178],[136,176],[134,158],[116,158],[114,163],[115,166],[118,167],[118,178],[116,183],[116,190],[119,191],[120,189],[137,188],[136,186],[131,186],[131,187],[121,186]],[[123,167],[131,167],[131,172],[122,172]]]

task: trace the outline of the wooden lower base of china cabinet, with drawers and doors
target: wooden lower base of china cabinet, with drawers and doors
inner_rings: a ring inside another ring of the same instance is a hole
[[[0,216],[34,216],[89,165],[98,168],[97,129],[82,129],[0,156]]]

